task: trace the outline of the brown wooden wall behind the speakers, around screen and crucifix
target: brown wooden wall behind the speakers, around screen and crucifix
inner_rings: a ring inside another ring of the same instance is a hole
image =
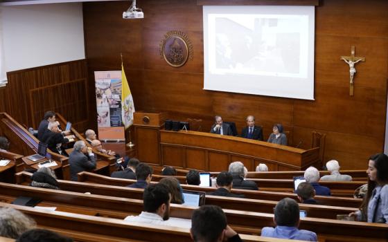
[[[136,20],[121,18],[126,1],[83,4],[89,84],[94,84],[93,71],[119,70],[122,52],[136,110],[168,111],[180,120],[200,118],[203,131],[210,130],[214,115],[222,115],[236,122],[240,132],[245,116],[253,114],[263,125],[265,140],[272,125],[282,123],[292,133],[293,145],[301,142],[304,149],[317,130],[327,134],[325,161],[336,158],[343,169],[364,169],[364,160],[382,151],[388,1],[319,1],[314,101],[204,91],[202,6],[195,0],[141,1],[145,18]],[[159,43],[170,30],[185,32],[193,43],[194,58],[182,68],[168,66],[159,56]],[[349,66],[340,56],[349,55],[352,45],[367,62],[356,65],[355,96],[350,97]]]

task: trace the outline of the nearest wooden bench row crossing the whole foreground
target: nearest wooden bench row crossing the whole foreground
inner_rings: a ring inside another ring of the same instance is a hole
[[[42,199],[39,206],[57,207],[59,212],[73,212],[82,215],[74,215],[75,220],[69,218],[63,218],[60,226],[62,229],[67,230],[91,230],[96,234],[100,234],[105,229],[104,226],[111,226],[108,220],[98,220],[100,226],[90,226],[85,229],[84,226],[78,223],[80,218],[85,218],[85,215],[106,218],[124,218],[129,214],[139,214],[142,211],[143,203],[140,200],[129,198],[117,198],[112,196],[100,196],[94,194],[80,194],[76,192],[66,192],[51,189],[42,189],[36,187],[26,187],[22,185],[11,185],[6,183],[0,183],[0,195],[1,201],[6,201],[6,205],[9,206],[9,202],[13,201],[17,196],[32,196]],[[170,216],[177,218],[191,218],[191,214],[195,207],[186,207],[184,205],[170,206]],[[19,209],[19,208],[18,208]],[[31,208],[27,208],[30,211],[36,212]],[[227,215],[229,224],[240,233],[260,234],[261,228],[265,226],[273,225],[273,214],[261,213],[261,212],[241,212],[237,210],[224,210]],[[59,215],[58,212],[45,212],[44,214]],[[35,218],[35,217],[34,217]],[[39,218],[37,223],[44,223],[45,226],[53,226],[55,222],[53,219]],[[113,222],[112,222],[113,223]],[[118,221],[118,223],[125,223]],[[374,223],[362,223],[351,221],[336,221],[333,219],[325,218],[301,218],[301,229],[311,230],[318,234],[319,241],[387,241],[388,238],[388,225],[374,224]],[[108,231],[112,230],[112,231]],[[118,234],[131,234],[130,232],[123,232],[121,230],[115,231],[112,227],[109,227],[105,235],[117,236]],[[187,232],[187,230],[186,230]],[[152,235],[150,235],[152,234]],[[149,236],[155,234],[150,233]],[[174,239],[171,235],[169,241],[182,241],[182,239]],[[132,239],[144,239],[144,237],[132,237]],[[150,239],[150,238],[148,238]],[[157,236],[155,236],[157,239]],[[187,239],[187,237],[186,237]],[[157,240],[150,240],[157,241]]]

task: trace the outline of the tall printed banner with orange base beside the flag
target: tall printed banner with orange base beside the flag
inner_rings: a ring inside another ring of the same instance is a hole
[[[124,141],[121,71],[95,71],[98,139]]]

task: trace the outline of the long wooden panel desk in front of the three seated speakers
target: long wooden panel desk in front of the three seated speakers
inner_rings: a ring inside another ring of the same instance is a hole
[[[319,162],[319,148],[298,149],[260,140],[197,131],[160,130],[161,165],[205,171],[227,170],[240,160],[252,171],[259,162],[271,170],[301,170]]]

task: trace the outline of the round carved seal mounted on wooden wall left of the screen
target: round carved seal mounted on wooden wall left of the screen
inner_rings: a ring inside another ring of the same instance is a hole
[[[171,30],[160,41],[159,53],[170,66],[183,66],[188,59],[193,59],[193,44],[184,32]]]

